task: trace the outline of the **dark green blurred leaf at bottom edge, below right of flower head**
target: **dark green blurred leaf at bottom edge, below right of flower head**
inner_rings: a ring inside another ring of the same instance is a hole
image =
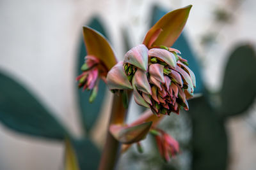
[[[228,148],[224,120],[219,119],[204,96],[189,101],[188,115],[193,124],[192,169],[226,169]]]

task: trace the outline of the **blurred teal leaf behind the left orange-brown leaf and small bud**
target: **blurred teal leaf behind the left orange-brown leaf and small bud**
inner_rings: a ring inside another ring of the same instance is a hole
[[[88,24],[88,26],[92,27],[96,31],[99,31],[101,34],[106,36],[106,32],[104,31],[104,28],[99,20],[98,17],[95,17],[91,20],[91,22]],[[81,38],[83,38],[83,35],[81,34]],[[81,66],[84,64],[84,56],[86,56],[86,48],[84,45],[84,40],[81,39],[81,45],[79,48],[79,53],[77,55],[77,75],[81,74]],[[89,102],[90,98],[90,92],[84,91],[82,89],[77,89],[78,93],[78,103],[79,103],[79,109],[80,109],[80,115],[84,126],[84,131],[90,131],[92,129],[95,121],[99,117],[100,108],[105,96],[106,92],[106,84],[100,80],[99,83],[99,91],[97,94],[97,97],[93,101],[93,103]]]

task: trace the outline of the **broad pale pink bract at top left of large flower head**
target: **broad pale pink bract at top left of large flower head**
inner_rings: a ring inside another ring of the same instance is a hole
[[[143,71],[148,67],[148,48],[145,45],[134,46],[124,55],[124,63],[132,64]]]

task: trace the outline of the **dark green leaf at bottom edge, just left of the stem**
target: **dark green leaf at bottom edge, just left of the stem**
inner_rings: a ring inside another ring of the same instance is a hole
[[[89,139],[73,139],[72,146],[76,152],[76,157],[81,170],[96,170],[99,166],[99,149]]]

